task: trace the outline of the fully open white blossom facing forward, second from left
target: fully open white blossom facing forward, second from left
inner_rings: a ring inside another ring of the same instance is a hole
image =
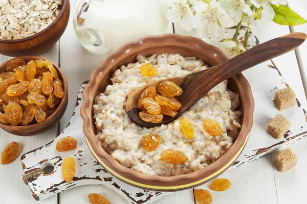
[[[233,20],[216,0],[212,0],[209,5],[204,2],[195,2],[193,7],[196,11],[193,27],[197,29],[200,37],[224,36],[225,27],[233,25]]]

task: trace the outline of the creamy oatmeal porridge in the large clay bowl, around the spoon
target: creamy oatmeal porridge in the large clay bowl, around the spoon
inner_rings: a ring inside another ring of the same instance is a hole
[[[194,106],[182,114],[193,125],[194,136],[187,139],[180,130],[180,117],[161,126],[140,127],[130,121],[126,110],[126,99],[135,89],[146,83],[178,77],[208,66],[195,57],[178,54],[155,54],[145,58],[136,57],[136,63],[129,63],[116,70],[104,93],[95,98],[93,106],[97,138],[104,150],[125,167],[144,174],[172,176],[186,174],[204,168],[222,157],[238,135],[241,112],[239,96],[227,89],[227,80],[210,90]],[[153,77],[144,76],[140,67],[145,63],[155,66],[158,73]],[[214,119],[223,133],[212,136],[204,131],[203,121]],[[152,151],[142,148],[148,135],[158,135],[160,145]],[[161,160],[163,150],[182,152],[187,158],[181,164],[170,164]]]

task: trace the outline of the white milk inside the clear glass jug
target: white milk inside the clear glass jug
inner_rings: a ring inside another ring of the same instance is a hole
[[[169,22],[168,9],[164,0],[94,1],[86,12],[85,24],[105,38],[112,53],[126,42],[163,34]]]

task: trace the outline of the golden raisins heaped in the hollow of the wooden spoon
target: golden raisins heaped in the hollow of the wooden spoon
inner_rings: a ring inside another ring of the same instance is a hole
[[[162,95],[157,95],[157,90]],[[181,108],[181,103],[174,98],[182,94],[179,86],[170,81],[162,81],[157,85],[157,90],[149,86],[140,94],[137,107],[142,110],[139,114],[140,118],[146,122],[159,123],[163,120],[163,115],[175,117]]]

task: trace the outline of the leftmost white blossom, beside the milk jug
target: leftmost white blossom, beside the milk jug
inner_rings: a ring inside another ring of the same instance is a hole
[[[166,0],[171,8],[167,12],[167,19],[171,22],[179,22],[180,28],[185,31],[192,30],[193,13],[186,0]]]

